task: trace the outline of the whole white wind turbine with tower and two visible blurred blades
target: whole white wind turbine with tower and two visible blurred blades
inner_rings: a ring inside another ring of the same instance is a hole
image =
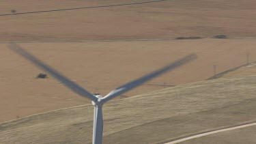
[[[28,61],[31,61],[35,66],[38,66],[42,70],[48,72],[48,74],[51,74],[57,80],[61,81],[63,85],[65,85],[75,93],[79,94],[79,96],[82,96],[84,98],[89,98],[92,101],[92,104],[94,105],[94,130],[93,130],[93,141],[92,141],[93,144],[102,143],[102,134],[103,134],[102,106],[105,102],[108,102],[109,100],[121,95],[122,93],[125,93],[126,91],[129,91],[130,89],[133,89],[134,87],[138,87],[142,83],[145,83],[146,81],[149,81],[152,78],[159,76],[160,74],[164,74],[165,72],[173,70],[197,58],[197,55],[195,54],[191,54],[186,57],[183,57],[182,59],[179,59],[163,68],[160,68],[159,70],[156,70],[150,74],[146,74],[141,78],[131,81],[130,83],[127,83],[125,85],[122,85],[121,87],[114,89],[109,94],[102,97],[100,95],[95,96],[94,94],[89,93],[87,90],[83,89],[83,87],[79,86],[73,81],[70,81],[70,79],[68,79],[66,76],[63,76],[62,74],[60,74],[59,72],[51,68],[50,66],[46,65],[45,63],[43,63],[33,55],[29,54],[27,51],[25,51],[23,48],[21,48],[17,44],[12,43],[12,44],[9,44],[8,47],[12,51],[25,57],[25,59],[27,59]]]

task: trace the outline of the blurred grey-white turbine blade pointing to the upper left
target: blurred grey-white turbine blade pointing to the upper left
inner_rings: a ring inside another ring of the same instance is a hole
[[[61,81],[66,87],[70,88],[75,93],[78,93],[80,96],[83,96],[84,98],[89,98],[93,100],[94,102],[98,102],[98,98],[94,96],[93,94],[89,93],[83,87],[80,87],[78,84],[74,83],[73,81],[70,81],[66,76],[63,76],[50,66],[47,66],[45,63],[34,57],[33,55],[27,53],[23,48],[18,46],[17,44],[9,44],[8,47],[18,53],[19,55],[25,57],[28,61],[31,61],[35,66],[38,66],[42,70],[48,72],[48,74],[51,74],[53,77],[55,77],[57,80]]]

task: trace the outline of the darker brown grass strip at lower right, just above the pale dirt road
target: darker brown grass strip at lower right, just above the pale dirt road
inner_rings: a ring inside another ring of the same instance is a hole
[[[188,115],[178,115],[152,121],[110,134],[105,138],[104,142],[167,143],[204,132],[251,124],[256,121],[255,104],[256,99],[251,99],[209,111],[189,113]],[[116,142],[117,139],[119,141]]]

